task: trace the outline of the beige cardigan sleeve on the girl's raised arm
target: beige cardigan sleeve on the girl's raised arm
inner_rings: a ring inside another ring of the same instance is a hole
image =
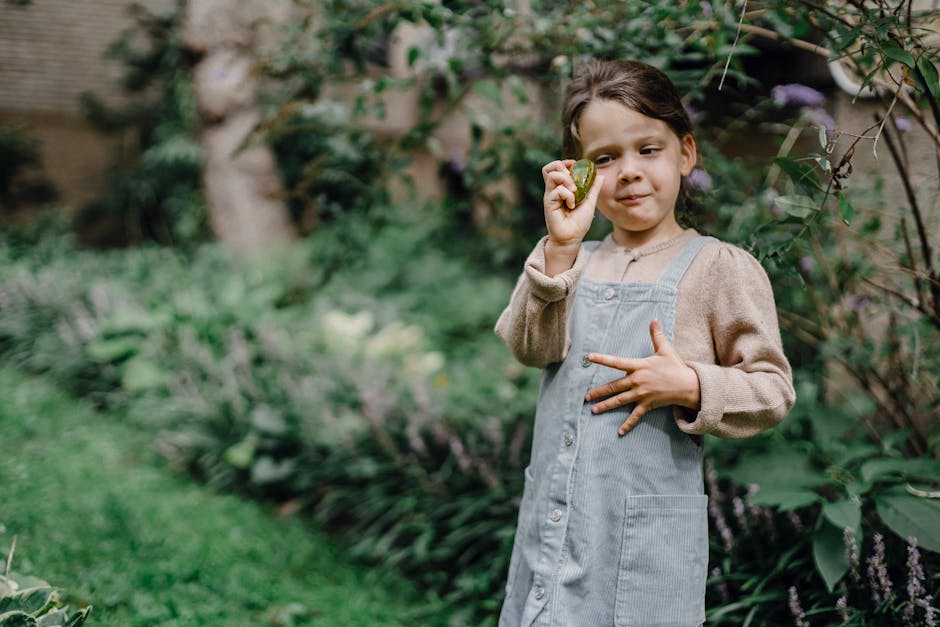
[[[526,259],[495,329],[516,359],[537,368],[564,359],[568,308],[587,258],[582,247],[570,269],[549,277],[545,274],[546,239],[543,237]]]

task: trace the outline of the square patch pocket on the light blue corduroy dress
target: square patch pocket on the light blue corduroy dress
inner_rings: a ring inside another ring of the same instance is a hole
[[[708,497],[627,497],[616,627],[697,627],[705,621]]]

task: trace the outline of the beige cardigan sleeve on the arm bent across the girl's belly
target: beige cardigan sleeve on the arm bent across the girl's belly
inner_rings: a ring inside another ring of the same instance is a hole
[[[699,378],[697,414],[677,415],[693,435],[743,438],[779,424],[796,400],[783,353],[773,289],[760,263],[740,248],[722,244],[702,297],[715,363],[688,361]]]

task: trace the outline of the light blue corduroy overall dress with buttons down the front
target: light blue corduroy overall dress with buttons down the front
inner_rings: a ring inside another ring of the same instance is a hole
[[[568,355],[542,378],[500,627],[704,622],[700,446],[676,426],[672,407],[648,412],[620,437],[633,405],[594,415],[584,395],[623,376],[588,353],[652,355],[653,318],[673,341],[676,286],[709,241],[686,244],[656,282],[578,282]],[[589,252],[596,245],[585,244]]]

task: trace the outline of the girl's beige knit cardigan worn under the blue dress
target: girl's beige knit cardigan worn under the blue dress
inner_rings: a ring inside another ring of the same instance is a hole
[[[554,277],[545,274],[543,238],[526,260],[496,333],[513,355],[544,368],[561,361],[578,279],[650,282],[698,236],[686,229],[673,239],[627,249],[607,236],[588,257]],[[754,435],[782,421],[796,398],[783,354],[773,290],[754,257],[733,245],[706,245],[678,285],[673,345],[698,375],[701,407],[677,408],[680,429],[723,438]],[[587,390],[585,390],[586,392]]]

